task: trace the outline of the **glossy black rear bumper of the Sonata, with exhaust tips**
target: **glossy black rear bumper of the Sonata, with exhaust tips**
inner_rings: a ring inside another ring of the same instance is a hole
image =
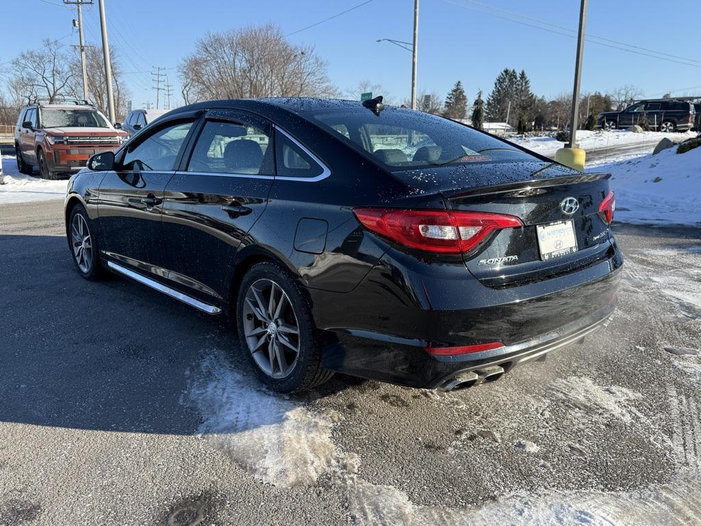
[[[454,304],[454,310],[408,306],[397,290],[387,286],[382,292],[390,298],[386,302],[373,301],[362,284],[345,295],[345,302],[340,297],[344,295],[337,295],[336,306],[312,292],[315,320],[325,329],[323,363],[348,375],[428,389],[456,389],[495,379],[521,363],[576,342],[608,321],[620,281],[622,259],[617,249],[612,259],[563,278],[505,290],[491,290],[474,278],[463,278],[465,290],[444,295],[444,306]],[[372,275],[365,282],[368,280],[381,281]],[[455,288],[449,280],[444,285]],[[364,306],[353,302],[354,294],[365,296]],[[463,294],[466,308],[461,309]],[[512,301],[494,303],[508,297]],[[388,306],[391,299],[399,301]],[[320,313],[329,308],[336,309],[335,313]],[[336,317],[341,313],[344,325]],[[376,328],[369,322],[373,318]],[[457,356],[437,356],[426,349],[436,344],[486,342],[504,346]]]

